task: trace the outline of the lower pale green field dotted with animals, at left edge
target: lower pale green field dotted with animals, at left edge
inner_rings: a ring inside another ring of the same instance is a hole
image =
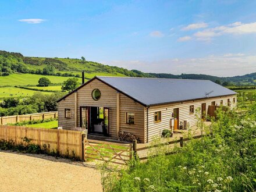
[[[37,91],[25,90],[16,87],[0,87],[0,98],[5,97],[26,97],[31,96]],[[42,92],[44,94],[52,94],[51,92]]]

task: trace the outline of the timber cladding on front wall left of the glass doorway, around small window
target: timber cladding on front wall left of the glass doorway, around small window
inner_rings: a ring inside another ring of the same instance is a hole
[[[71,117],[65,118],[65,109],[71,109]],[[59,127],[71,129],[74,127],[74,94],[69,95],[58,103]]]

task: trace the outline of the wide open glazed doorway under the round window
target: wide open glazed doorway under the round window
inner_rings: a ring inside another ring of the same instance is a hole
[[[100,106],[80,107],[80,127],[88,130],[88,134],[109,134],[109,108]]]

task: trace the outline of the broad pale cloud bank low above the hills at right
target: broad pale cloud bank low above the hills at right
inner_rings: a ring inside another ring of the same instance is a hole
[[[203,58],[170,58],[159,61],[109,61],[108,65],[152,73],[195,73],[214,76],[236,76],[256,71],[256,55],[222,54]]]

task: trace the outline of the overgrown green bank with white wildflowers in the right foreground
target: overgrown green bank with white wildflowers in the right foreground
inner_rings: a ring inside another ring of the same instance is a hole
[[[127,169],[105,171],[105,191],[254,191],[256,189],[256,104],[240,113],[218,109],[211,136],[176,147]],[[102,174],[103,176],[104,174]]]

